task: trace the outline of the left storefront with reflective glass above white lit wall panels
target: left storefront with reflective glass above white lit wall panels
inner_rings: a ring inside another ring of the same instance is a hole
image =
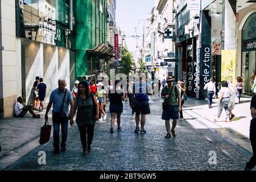
[[[16,36],[21,39],[22,96],[31,100],[35,77],[47,84],[46,102],[57,80],[65,78],[70,87],[71,0],[16,0]],[[74,74],[72,74],[74,75]],[[71,78],[73,83],[73,78]],[[73,85],[71,85],[73,86]]]

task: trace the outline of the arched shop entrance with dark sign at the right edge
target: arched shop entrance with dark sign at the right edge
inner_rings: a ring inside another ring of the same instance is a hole
[[[251,93],[251,86],[256,70],[256,12],[247,18],[242,28],[242,67],[241,73],[245,80],[243,90],[245,94]]]

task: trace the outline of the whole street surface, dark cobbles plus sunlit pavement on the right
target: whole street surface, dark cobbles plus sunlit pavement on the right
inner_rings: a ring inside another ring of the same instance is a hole
[[[135,117],[131,115],[129,102],[123,102],[122,131],[117,132],[115,122],[114,134],[110,134],[110,113],[108,113],[109,105],[107,105],[108,119],[96,123],[92,151],[88,155],[81,155],[79,129],[75,125],[69,127],[68,130],[67,151],[52,155],[53,141],[51,138],[47,144],[36,146],[6,167],[5,170],[240,171],[245,168],[245,163],[250,159],[252,152],[249,139],[243,136],[241,134],[243,131],[239,129],[242,125],[247,127],[247,123],[250,122],[248,98],[243,98],[242,103],[236,105],[234,113],[237,117],[234,121],[225,123],[225,126],[222,127],[224,122],[213,122],[214,113],[217,114],[217,103],[213,104],[212,109],[208,109],[207,101],[189,98],[183,106],[185,119],[179,120],[175,129],[177,137],[171,138],[164,138],[166,128],[165,122],[161,119],[161,102],[160,98],[150,100],[151,114],[146,116],[144,127],[147,131],[146,134],[134,133]],[[246,111],[243,111],[242,107]],[[222,113],[223,116],[224,113]],[[40,122],[34,118],[24,119],[28,119],[30,123]],[[41,119],[43,123],[43,118]],[[0,128],[2,128],[1,125]],[[39,133],[40,127],[35,130]],[[245,130],[249,133],[248,127]],[[0,130],[1,135],[4,132],[6,132],[5,129]],[[26,133],[26,128],[23,129],[23,132]],[[2,141],[1,138],[0,142]],[[27,145],[29,144],[27,143]],[[2,144],[2,148],[5,149],[5,147]],[[16,146],[16,148],[20,147]],[[39,151],[46,152],[46,165],[39,165]],[[18,155],[19,151],[13,149],[13,152],[9,151],[6,155],[2,155],[0,164],[5,161],[5,158],[15,153]],[[216,154],[217,164],[214,164],[215,160],[210,159],[212,154]]]

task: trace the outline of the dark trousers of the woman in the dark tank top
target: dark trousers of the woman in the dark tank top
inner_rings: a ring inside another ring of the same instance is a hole
[[[82,143],[82,149],[86,150],[87,146],[90,146],[92,144],[93,134],[94,134],[94,125],[79,126],[79,132],[80,132],[80,139]],[[86,137],[86,134],[87,134],[87,137]]]

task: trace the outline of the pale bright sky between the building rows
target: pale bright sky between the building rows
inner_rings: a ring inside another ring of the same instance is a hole
[[[117,27],[126,35],[126,46],[133,54],[139,54],[135,27],[137,28],[138,47],[142,45],[143,25],[147,14],[151,13],[155,0],[117,0],[115,20]]]

